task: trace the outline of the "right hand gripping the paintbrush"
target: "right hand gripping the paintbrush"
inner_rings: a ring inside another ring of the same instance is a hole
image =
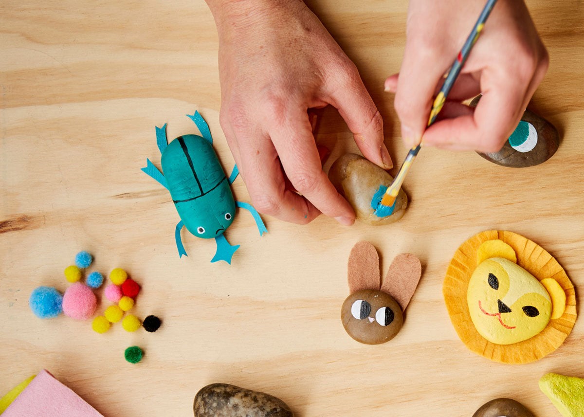
[[[471,32],[485,0],[411,0],[399,74],[385,81],[395,92],[402,138],[409,147],[496,152],[515,130],[544,78],[548,54],[522,0],[499,0],[439,118],[427,126],[443,75]],[[474,109],[461,104],[482,94]]]

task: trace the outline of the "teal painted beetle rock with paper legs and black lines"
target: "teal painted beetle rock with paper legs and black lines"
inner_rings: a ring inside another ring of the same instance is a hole
[[[175,239],[179,255],[186,255],[180,238],[183,226],[196,237],[214,238],[217,252],[211,262],[225,260],[231,263],[239,245],[230,245],[223,232],[233,223],[235,207],[249,210],[256,221],[260,236],[266,227],[251,204],[235,201],[230,184],[239,173],[234,166],[227,178],[213,148],[213,138],[207,122],[195,112],[187,114],[200,130],[199,135],[182,135],[170,144],[166,140],[166,124],[156,128],[157,145],[161,151],[162,172],[147,159],[142,171],[147,173],[171,193],[172,201],[180,216],[176,225]]]

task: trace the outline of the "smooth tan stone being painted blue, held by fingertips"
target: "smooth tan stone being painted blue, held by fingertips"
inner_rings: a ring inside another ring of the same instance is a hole
[[[391,216],[377,217],[371,207],[373,195],[380,185],[389,187],[393,177],[373,162],[356,154],[345,154],[332,164],[329,178],[336,189],[351,204],[357,219],[372,225],[394,223],[404,216],[408,206],[408,197],[404,190],[399,190],[395,209]]]

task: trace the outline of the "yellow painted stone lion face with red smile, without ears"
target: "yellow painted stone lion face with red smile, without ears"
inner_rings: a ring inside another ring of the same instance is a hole
[[[532,338],[547,326],[552,313],[545,287],[505,258],[479,263],[468,283],[467,303],[477,331],[498,345]]]

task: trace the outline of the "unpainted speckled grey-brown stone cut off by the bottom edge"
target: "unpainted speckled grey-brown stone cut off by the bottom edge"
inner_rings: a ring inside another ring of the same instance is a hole
[[[265,392],[210,384],[194,397],[194,417],[294,417],[284,401]]]

